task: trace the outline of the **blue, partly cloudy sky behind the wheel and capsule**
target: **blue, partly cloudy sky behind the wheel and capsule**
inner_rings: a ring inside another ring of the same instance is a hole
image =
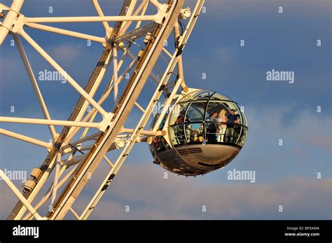
[[[120,2],[109,14],[117,14]],[[95,15],[90,1],[77,3],[71,1],[62,8],[63,1],[32,0],[22,13],[43,16],[53,6],[54,16],[71,15],[74,7],[76,15]],[[109,1],[101,3],[107,6]],[[279,6],[284,13],[278,13]],[[163,179],[165,170],[152,165],[146,144],[137,144],[91,218],[331,219],[331,1],[207,0],[205,7],[183,54],[186,83],[223,92],[244,106],[249,121],[246,145],[224,169],[195,179],[170,173]],[[104,34],[98,24],[66,27]],[[87,47],[82,40],[28,33],[84,85],[102,52],[99,44]],[[245,46],[240,46],[242,39]],[[1,116],[13,116],[9,109],[14,105],[15,116],[41,118],[18,51],[10,41],[8,36],[0,48],[1,57],[6,57],[0,60]],[[27,43],[25,47],[36,71],[50,69]],[[266,72],[272,69],[294,71],[295,83],[266,81]],[[76,92],[69,84],[40,85],[51,116],[67,119],[78,99]],[[317,106],[321,106],[320,113]],[[3,127],[47,140],[46,127]],[[43,148],[7,137],[1,137],[0,143],[1,168],[29,172],[45,157]],[[96,174],[102,175],[103,169]],[[256,183],[228,181],[227,172],[232,169],[255,170]],[[92,184],[83,191],[82,201],[88,200],[97,181]],[[0,200],[4,206],[0,218],[5,218],[15,197],[4,183],[0,191],[6,195]],[[125,205],[130,205],[130,213],[125,213]],[[205,214],[202,205],[207,206]],[[282,213],[277,211],[279,205],[284,207]]]

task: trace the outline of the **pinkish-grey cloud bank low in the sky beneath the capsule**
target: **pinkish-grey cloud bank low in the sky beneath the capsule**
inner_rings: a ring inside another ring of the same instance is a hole
[[[93,219],[331,218],[331,179],[218,185],[170,176],[146,165],[126,166],[92,213]],[[142,176],[144,175],[144,176]],[[125,206],[130,212],[125,212]],[[202,205],[207,212],[202,212]],[[284,212],[279,213],[282,205]],[[319,210],[312,211],[319,207]]]

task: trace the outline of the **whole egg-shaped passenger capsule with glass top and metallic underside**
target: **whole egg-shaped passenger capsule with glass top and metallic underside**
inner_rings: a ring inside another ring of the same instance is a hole
[[[244,146],[247,119],[226,95],[194,90],[171,107],[160,124],[160,112],[151,124],[163,134],[149,142],[155,164],[184,176],[207,174],[228,165]]]

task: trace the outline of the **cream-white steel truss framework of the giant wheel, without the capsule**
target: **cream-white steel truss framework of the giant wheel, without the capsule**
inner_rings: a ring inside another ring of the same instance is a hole
[[[166,116],[172,100],[179,93],[189,92],[190,89],[184,82],[181,53],[200,15],[204,0],[197,0],[192,10],[184,8],[184,0],[169,0],[166,3],[158,0],[125,0],[118,16],[104,15],[98,1],[92,0],[97,16],[47,18],[25,17],[20,13],[23,4],[24,0],[13,0],[11,6],[0,4],[0,17],[4,18],[0,25],[0,44],[8,34],[13,35],[44,119],[1,117],[0,121],[47,125],[53,143],[9,130],[0,130],[0,133],[5,136],[26,141],[47,150],[46,159],[41,166],[32,169],[31,178],[23,186],[23,193],[0,169],[1,178],[19,199],[8,219],[58,220],[63,219],[69,211],[80,220],[87,219],[106,192],[106,188],[110,186],[134,144],[149,141],[151,137],[164,133],[165,131],[158,131],[158,127],[162,118]],[[148,8],[155,8],[157,13],[146,14]],[[185,27],[179,22],[180,20],[186,20]],[[104,37],[92,36],[44,25],[44,23],[61,22],[101,22],[106,34]],[[113,27],[109,25],[109,22],[113,22]],[[67,74],[67,71],[25,32],[26,27],[102,43],[104,51],[85,88],[76,83],[74,78]],[[171,36],[172,32],[174,36]],[[173,38],[175,48],[172,51],[167,50],[165,41]],[[81,95],[68,120],[51,118],[21,39],[29,43]],[[142,42],[141,45],[139,41]],[[139,46],[136,52],[133,50],[135,46]],[[119,53],[122,53],[120,58]],[[127,67],[125,67],[126,59],[130,60]],[[158,60],[164,62],[164,70],[161,70]],[[109,69],[112,71],[112,78],[106,81],[105,74]],[[159,75],[153,72],[154,69],[158,70]],[[124,77],[130,72],[132,72],[130,79],[126,81]],[[173,83],[170,81],[172,76],[175,77]],[[149,77],[156,83],[155,90],[151,93],[144,90]],[[96,94],[102,82],[108,82],[108,84],[102,96],[97,97]],[[120,83],[124,85],[123,90],[119,88]],[[152,130],[146,130],[145,127],[153,109],[165,93],[167,95],[163,100],[164,109],[158,122]],[[140,95],[149,97],[146,107],[137,102]],[[113,111],[107,111],[103,106],[109,97],[115,102]],[[90,112],[87,112],[88,106],[92,106]],[[141,116],[134,127],[127,128],[124,125],[134,106],[141,111]],[[100,122],[95,121],[98,116],[102,118]],[[62,131],[57,133],[55,126],[61,126]],[[87,142],[92,142],[92,145],[85,145]],[[113,151],[120,151],[120,153],[115,161],[110,161],[107,155]],[[76,199],[102,161],[109,164],[109,172],[100,181],[99,188],[79,214],[74,209]],[[41,188],[46,186],[48,181],[51,182],[51,186],[41,200],[36,200],[36,196],[41,193]],[[52,207],[46,215],[41,215],[39,209],[48,201]]]

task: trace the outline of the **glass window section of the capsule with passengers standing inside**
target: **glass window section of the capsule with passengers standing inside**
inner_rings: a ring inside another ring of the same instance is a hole
[[[242,147],[247,137],[247,123],[240,107],[218,93],[188,95],[174,106],[170,116],[174,146],[226,144]]]

